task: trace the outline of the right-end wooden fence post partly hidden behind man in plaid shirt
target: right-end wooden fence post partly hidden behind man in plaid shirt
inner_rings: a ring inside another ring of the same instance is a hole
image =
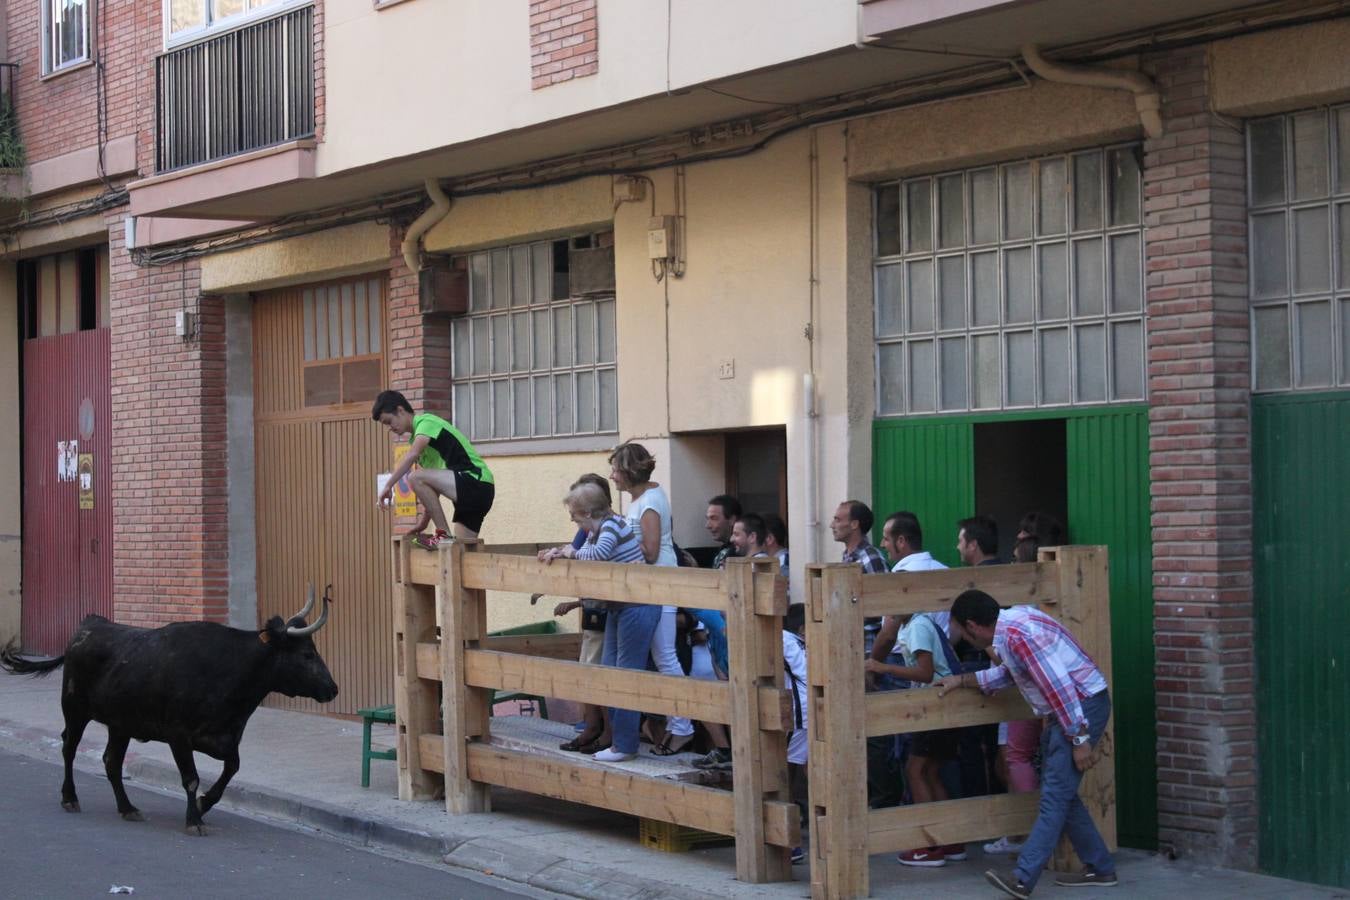
[[[1111,573],[1104,546],[1054,546],[1041,551],[1042,561],[1054,561],[1060,575],[1057,618],[1111,681]],[[1115,712],[1098,743],[1100,758],[1083,776],[1079,796],[1092,814],[1106,845],[1116,849],[1115,834]],[[1060,838],[1050,868],[1077,872],[1083,862],[1068,838]]]

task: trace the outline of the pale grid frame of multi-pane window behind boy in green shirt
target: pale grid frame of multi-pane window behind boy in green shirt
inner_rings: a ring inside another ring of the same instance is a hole
[[[574,235],[563,240],[543,240],[508,244],[467,254],[470,298],[468,312],[451,321],[451,383],[454,391],[454,418],[460,430],[475,445],[495,447],[494,452],[510,452],[517,447],[582,445],[610,447],[618,434],[618,333],[617,301],[614,293],[554,297],[552,283],[539,286],[537,252],[547,254],[547,269],[552,273],[552,254],[559,243],[572,244]],[[595,246],[597,235],[590,235]],[[521,286],[524,282],[524,286]],[[505,301],[494,294],[502,285],[509,286]],[[524,293],[517,293],[524,290]],[[547,300],[544,298],[547,294]],[[589,312],[587,358],[579,359],[580,310]],[[606,314],[608,313],[608,314]],[[570,349],[559,359],[555,325],[558,317],[567,321]],[[545,332],[539,331],[539,317],[547,320]],[[517,343],[517,325],[528,322],[525,337]],[[605,324],[612,328],[612,345],[602,337]],[[528,340],[526,340],[528,339]],[[504,340],[505,343],[498,343]],[[540,341],[547,341],[547,348]],[[540,354],[540,349],[547,352]],[[517,356],[517,351],[524,351]],[[501,364],[501,367],[495,367]],[[590,382],[591,425],[583,426],[582,382]],[[605,382],[613,387],[613,409],[606,409]],[[541,398],[537,393],[544,390]],[[560,390],[568,395],[559,394]],[[505,412],[501,406],[505,401]],[[528,395],[526,395],[528,394]],[[487,401],[486,412],[479,409]],[[547,413],[539,407],[548,403]],[[571,424],[556,421],[559,401],[566,401]],[[525,410],[521,401],[529,405]],[[518,416],[528,412],[528,433],[520,428]],[[613,418],[606,421],[606,413]],[[505,416],[505,421],[498,416]],[[540,428],[540,416],[547,416],[548,428]],[[502,428],[505,425],[505,428]],[[559,444],[562,443],[562,444]]]

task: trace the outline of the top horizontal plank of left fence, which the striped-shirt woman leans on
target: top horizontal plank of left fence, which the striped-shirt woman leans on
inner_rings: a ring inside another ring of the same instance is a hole
[[[628,603],[680,604],[726,610],[722,572],[716,569],[555,560],[528,556],[464,555],[464,587],[549,596],[587,596]]]

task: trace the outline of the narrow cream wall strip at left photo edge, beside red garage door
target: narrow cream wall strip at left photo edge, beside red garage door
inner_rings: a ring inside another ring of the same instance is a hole
[[[12,262],[0,263],[0,646],[20,634],[19,286]]]

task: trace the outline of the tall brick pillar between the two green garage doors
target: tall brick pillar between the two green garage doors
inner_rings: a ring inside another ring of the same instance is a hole
[[[1166,124],[1145,147],[1160,841],[1253,866],[1243,136],[1210,112],[1204,47],[1150,63]]]

